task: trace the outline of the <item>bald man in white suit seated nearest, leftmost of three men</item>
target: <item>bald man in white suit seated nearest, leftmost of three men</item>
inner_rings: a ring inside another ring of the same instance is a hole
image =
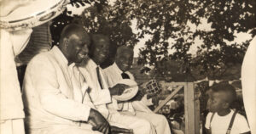
[[[89,44],[83,27],[67,25],[60,45],[38,54],[27,65],[23,98],[29,133],[108,134],[108,121],[93,109],[76,67],[86,58]]]

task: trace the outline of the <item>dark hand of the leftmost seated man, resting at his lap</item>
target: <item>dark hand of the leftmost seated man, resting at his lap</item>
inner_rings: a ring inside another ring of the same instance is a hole
[[[90,109],[88,122],[92,125],[93,131],[100,131],[103,134],[108,134],[110,131],[108,121],[96,109]]]

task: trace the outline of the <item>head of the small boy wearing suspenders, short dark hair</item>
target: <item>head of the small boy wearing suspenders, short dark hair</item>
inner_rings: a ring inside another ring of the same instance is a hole
[[[207,107],[210,112],[220,112],[230,109],[231,103],[236,100],[236,89],[227,82],[220,82],[211,88]]]

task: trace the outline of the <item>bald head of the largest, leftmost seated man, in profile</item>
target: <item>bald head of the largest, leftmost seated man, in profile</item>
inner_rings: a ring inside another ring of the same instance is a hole
[[[90,36],[84,31],[83,26],[70,24],[61,31],[59,48],[68,63],[80,63],[88,54]]]

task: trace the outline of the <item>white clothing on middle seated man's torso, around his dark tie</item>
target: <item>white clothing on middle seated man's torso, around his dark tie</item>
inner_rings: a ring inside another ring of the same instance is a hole
[[[99,67],[99,72],[102,78],[101,88],[96,73],[96,68]],[[79,67],[81,74],[84,76],[86,83],[90,88],[90,98],[96,109],[107,119],[109,112],[106,104],[111,103],[111,95],[108,90],[107,82],[102,75],[102,68],[98,66],[92,59],[89,59],[83,67]]]

